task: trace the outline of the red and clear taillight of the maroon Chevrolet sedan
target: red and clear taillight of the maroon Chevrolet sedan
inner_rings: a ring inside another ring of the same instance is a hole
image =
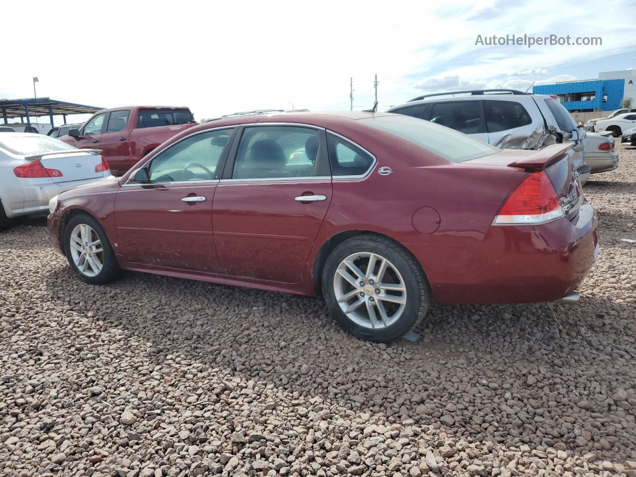
[[[555,188],[545,172],[532,172],[508,197],[493,225],[536,225],[563,217]]]

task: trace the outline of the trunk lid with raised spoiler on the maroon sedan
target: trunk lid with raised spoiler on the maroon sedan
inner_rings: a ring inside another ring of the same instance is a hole
[[[534,151],[502,149],[500,153],[469,160],[462,164],[515,167],[525,172],[543,170],[555,188],[565,216],[572,218],[583,203],[583,188],[572,162],[574,152],[572,146],[574,145],[568,142],[552,144]]]

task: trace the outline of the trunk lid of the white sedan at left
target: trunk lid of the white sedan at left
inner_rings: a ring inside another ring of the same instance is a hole
[[[109,176],[111,171],[108,169],[95,170],[102,163],[101,152],[99,149],[77,149],[25,156],[25,159],[39,160],[46,169],[58,170],[61,176],[50,173],[50,177],[53,182],[62,183]]]

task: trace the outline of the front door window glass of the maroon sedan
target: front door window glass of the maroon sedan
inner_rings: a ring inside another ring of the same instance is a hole
[[[151,183],[211,181],[232,129],[219,129],[186,137],[153,158]]]

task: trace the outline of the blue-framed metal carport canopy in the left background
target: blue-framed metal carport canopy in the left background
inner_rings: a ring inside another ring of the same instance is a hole
[[[9,118],[26,117],[27,124],[31,125],[31,116],[49,116],[53,127],[53,115],[64,116],[66,122],[66,114],[92,114],[100,109],[104,108],[50,98],[0,99],[4,124],[8,124]]]

